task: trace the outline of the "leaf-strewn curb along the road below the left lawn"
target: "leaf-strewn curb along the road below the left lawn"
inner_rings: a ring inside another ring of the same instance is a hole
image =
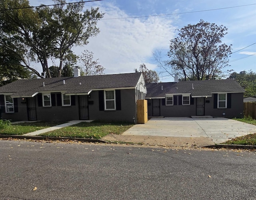
[[[28,135],[0,135],[0,138],[14,138],[14,139],[32,139],[32,140],[69,140],[69,141],[81,141],[92,143],[108,143],[107,141],[100,139],[90,138],[70,138],[70,137],[47,137],[47,136],[28,136]]]

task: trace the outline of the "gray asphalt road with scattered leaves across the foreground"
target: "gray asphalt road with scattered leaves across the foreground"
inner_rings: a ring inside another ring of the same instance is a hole
[[[255,166],[256,152],[0,140],[0,199],[253,200]]]

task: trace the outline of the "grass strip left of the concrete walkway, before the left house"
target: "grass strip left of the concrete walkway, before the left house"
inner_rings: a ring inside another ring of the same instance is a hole
[[[0,134],[2,135],[23,135],[33,131],[45,129],[48,127],[56,126],[65,122],[31,122],[20,124],[9,124],[8,126],[0,127]]]

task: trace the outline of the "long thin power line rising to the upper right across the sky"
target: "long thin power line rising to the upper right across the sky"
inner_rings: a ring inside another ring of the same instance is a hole
[[[136,17],[123,17],[123,18],[103,18],[101,20],[120,20],[120,19],[131,19],[131,18],[144,18],[144,17],[157,17],[157,16],[168,16],[168,15],[178,15],[178,14],[188,14],[188,13],[195,13],[195,12],[206,12],[206,11],[212,11],[212,10],[223,10],[223,9],[229,9],[229,8],[238,8],[243,6],[252,6],[256,4],[247,4],[242,6],[232,6],[232,7],[226,7],[226,8],[215,8],[215,9],[209,9],[209,10],[198,10],[198,11],[191,11],[191,12],[179,12],[179,13],[172,13],[172,14],[160,14],[160,15],[148,15],[148,16],[136,16]]]

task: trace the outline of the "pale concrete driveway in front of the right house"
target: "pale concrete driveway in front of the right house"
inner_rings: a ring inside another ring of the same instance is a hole
[[[163,137],[207,137],[214,143],[256,133],[256,126],[226,118],[165,117],[137,124],[122,135]]]

